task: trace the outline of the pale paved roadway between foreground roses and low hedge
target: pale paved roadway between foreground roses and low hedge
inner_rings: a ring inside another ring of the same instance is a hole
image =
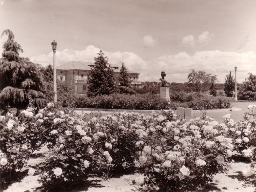
[[[215,118],[218,122],[222,122],[223,119],[222,117],[228,113],[230,113],[232,116],[231,118],[233,118],[235,121],[239,121],[243,119],[243,115],[245,112],[248,111],[247,107],[249,105],[256,105],[256,101],[253,102],[232,102],[231,103],[232,108],[231,109],[217,109],[217,110],[206,110],[206,115]],[[152,110],[109,110],[109,109],[98,109],[95,111],[100,111],[100,113],[102,115],[109,115],[112,114],[113,112],[137,112],[139,114],[145,114],[145,115],[151,115]],[[81,114],[81,113],[86,113],[86,114],[90,114],[91,113],[91,109],[77,109],[76,113]],[[193,111],[193,118],[194,117],[201,117],[202,116],[202,111],[197,111],[194,110]],[[190,118],[187,118],[190,119]]]

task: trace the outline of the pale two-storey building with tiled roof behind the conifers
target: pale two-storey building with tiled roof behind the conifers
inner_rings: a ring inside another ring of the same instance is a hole
[[[81,61],[71,61],[62,65],[57,66],[56,73],[57,79],[60,81],[66,81],[74,83],[75,90],[78,94],[87,93],[87,76],[91,67],[94,63],[81,62]],[[118,67],[113,67],[115,76],[118,77],[120,69]],[[131,79],[131,86],[140,88],[142,83],[138,81],[139,73],[130,72],[128,70],[128,75]]]

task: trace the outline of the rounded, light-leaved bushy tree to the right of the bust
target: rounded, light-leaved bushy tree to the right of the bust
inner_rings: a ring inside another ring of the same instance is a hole
[[[204,71],[195,71],[192,69],[191,73],[188,74],[187,86],[190,90],[195,92],[204,92],[209,90],[212,82],[217,81],[217,76],[212,76]]]

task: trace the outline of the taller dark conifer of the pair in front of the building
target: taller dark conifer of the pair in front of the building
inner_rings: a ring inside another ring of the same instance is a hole
[[[94,58],[94,66],[88,74],[88,96],[109,95],[115,92],[114,70],[108,64],[108,58],[99,50]]]

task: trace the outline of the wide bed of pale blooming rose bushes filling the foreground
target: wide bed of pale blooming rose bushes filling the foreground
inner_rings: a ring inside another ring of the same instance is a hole
[[[255,106],[238,123],[230,115],[224,123],[208,117],[180,121],[172,110],[85,121],[52,103],[35,112],[28,108],[19,117],[0,116],[0,174],[17,172],[46,145],[44,162],[28,172],[41,175],[45,190],[71,190],[89,176],[137,172],[141,175],[132,183],[140,191],[195,191],[225,171],[234,155],[255,160]],[[3,181],[10,180],[4,176]]]

